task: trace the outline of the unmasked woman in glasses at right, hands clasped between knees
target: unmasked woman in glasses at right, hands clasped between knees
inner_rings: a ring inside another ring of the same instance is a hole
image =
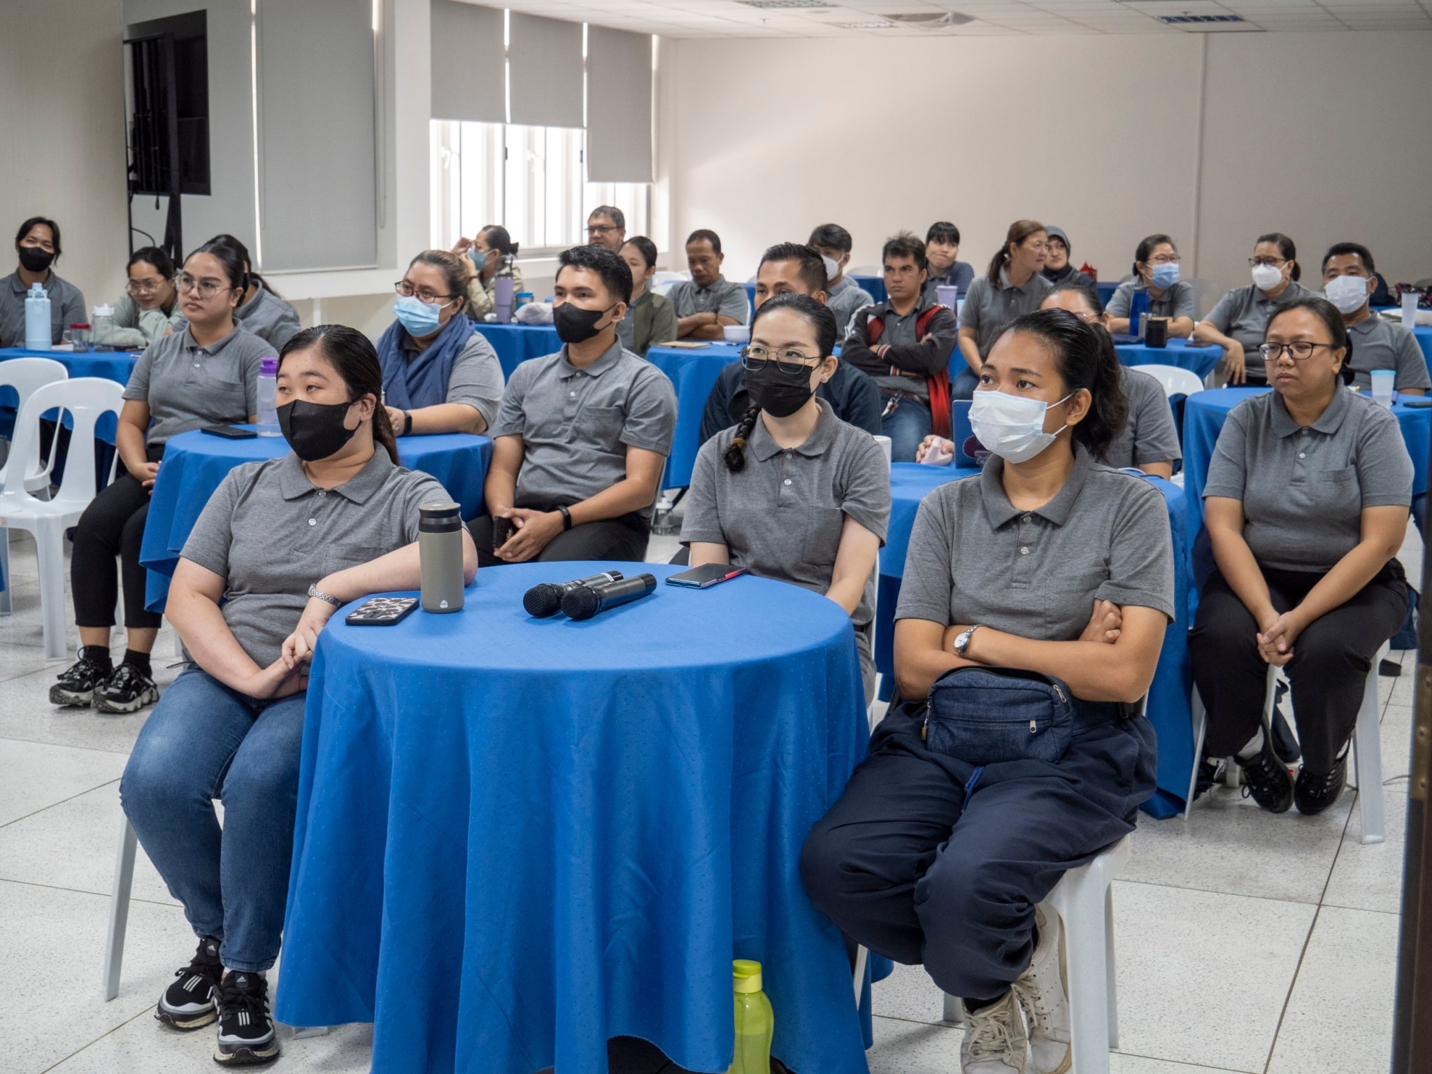
[[[1260,348],[1272,392],[1229,414],[1203,487],[1219,570],[1189,649],[1209,712],[1207,756],[1236,756],[1263,809],[1337,800],[1372,657],[1402,626],[1393,558],[1408,528],[1412,460],[1396,418],[1348,388],[1352,341],[1323,298],[1279,309]],[[1297,780],[1263,720],[1269,664],[1293,684]],[[1376,789],[1375,789],[1376,790]]]

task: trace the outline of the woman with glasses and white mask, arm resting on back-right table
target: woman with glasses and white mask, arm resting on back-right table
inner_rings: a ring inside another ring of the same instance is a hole
[[[1264,384],[1257,348],[1267,332],[1269,318],[1285,302],[1312,298],[1316,292],[1297,282],[1303,274],[1297,246],[1282,232],[1260,235],[1249,258],[1253,284],[1234,288],[1193,329],[1193,341],[1223,348],[1219,372],[1229,384]]]

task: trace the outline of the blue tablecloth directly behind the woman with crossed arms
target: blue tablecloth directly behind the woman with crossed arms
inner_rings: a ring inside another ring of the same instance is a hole
[[[1199,398],[1199,397],[1191,397]],[[901,579],[905,574],[905,553],[909,547],[909,531],[915,524],[919,501],[934,488],[962,477],[972,477],[978,470],[957,470],[954,467],[927,467],[918,463],[895,463],[891,467],[891,523],[881,550],[879,596],[875,611],[875,666],[881,670],[884,684],[881,693],[888,699],[895,680],[894,633],[895,606],[899,600]],[[1173,816],[1183,809],[1183,796],[1189,790],[1189,776],[1193,773],[1193,725],[1189,699],[1193,690],[1193,673],[1189,664],[1189,591],[1191,589],[1189,569],[1189,507],[1183,490],[1171,481],[1147,477],[1163,493],[1169,508],[1169,524],[1173,530],[1174,547],[1174,607],[1180,619],[1170,623],[1164,633],[1163,650],[1158,653],[1158,669],[1153,686],[1148,687],[1148,720],[1158,733],[1158,790],[1144,803],[1144,812],[1153,816]]]

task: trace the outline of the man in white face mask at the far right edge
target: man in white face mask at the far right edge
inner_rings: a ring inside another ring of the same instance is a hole
[[[1405,325],[1383,321],[1369,305],[1376,274],[1372,251],[1356,242],[1339,242],[1323,255],[1323,294],[1348,326],[1353,384],[1369,391],[1373,369],[1395,369],[1393,387],[1399,392],[1425,395],[1432,379],[1416,337]]]

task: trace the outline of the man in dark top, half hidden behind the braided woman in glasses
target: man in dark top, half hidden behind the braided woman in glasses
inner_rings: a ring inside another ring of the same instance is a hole
[[[756,271],[756,309],[776,295],[792,292],[825,302],[825,262],[811,246],[782,242],[760,258],[760,268]],[[871,434],[881,431],[881,390],[849,362],[839,362],[831,379],[816,387],[815,394],[831,404],[841,421]],[[749,408],[746,371],[739,361],[732,362],[720,371],[706,397],[702,442],[735,425]]]

